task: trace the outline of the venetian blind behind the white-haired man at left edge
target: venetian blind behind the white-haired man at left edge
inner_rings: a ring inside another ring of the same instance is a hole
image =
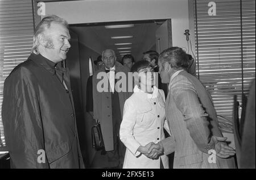
[[[31,0],[0,0],[0,148],[5,146],[2,123],[3,83],[11,70],[30,55],[34,33]]]

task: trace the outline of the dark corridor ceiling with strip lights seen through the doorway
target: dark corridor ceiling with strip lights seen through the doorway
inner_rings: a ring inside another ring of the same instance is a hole
[[[142,53],[155,47],[155,31],[164,20],[145,20],[139,22],[118,22],[118,23],[95,23],[79,24],[72,26],[76,32],[90,33],[95,42],[101,43],[105,49],[113,49],[119,61],[123,54],[130,53],[134,56],[135,61],[141,60]],[[133,27],[127,28],[106,28],[105,26],[123,24],[134,24]],[[78,33],[79,35],[79,33]],[[112,39],[116,36],[132,36],[129,38]],[[100,42],[99,42],[100,41]],[[131,43],[128,45],[115,45],[120,43]],[[129,49],[118,49],[129,48]],[[103,51],[104,49],[101,49]],[[126,52],[129,51],[129,52]]]

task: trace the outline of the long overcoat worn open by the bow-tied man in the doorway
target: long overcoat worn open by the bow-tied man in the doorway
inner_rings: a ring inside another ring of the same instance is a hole
[[[125,77],[123,78],[126,78],[125,80],[126,83],[122,83],[120,87],[122,88],[126,86],[125,89],[128,91],[128,75],[127,75],[128,71],[122,64],[120,64],[119,62],[115,62],[115,73],[117,74],[118,72],[123,72],[125,74]],[[97,75],[99,73],[105,74],[105,76],[104,77],[98,76],[99,78],[97,79]],[[112,111],[115,111],[115,110],[112,109],[112,98],[111,98],[112,93],[110,91],[100,92],[97,89],[97,85],[100,85],[100,83],[104,81],[104,78],[106,79],[105,85],[109,87],[108,76],[105,72],[105,69],[97,70],[93,74],[93,115],[94,115],[94,119],[100,120],[105,150],[110,151],[110,150],[114,150]],[[118,78],[118,81],[120,79],[121,77]],[[130,89],[131,89],[130,92],[120,91],[118,93],[121,116],[123,116],[123,106],[125,104],[126,99],[128,99],[132,94],[132,90],[133,90],[132,83],[131,83]]]

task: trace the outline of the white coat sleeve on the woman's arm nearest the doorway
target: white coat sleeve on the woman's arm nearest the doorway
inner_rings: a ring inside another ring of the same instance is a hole
[[[137,150],[141,144],[139,144],[133,136],[133,128],[135,123],[136,109],[134,108],[134,103],[128,99],[125,102],[125,106],[123,108],[123,120],[120,125],[119,136],[120,140],[126,146],[126,148],[129,149],[130,152],[134,154],[134,156],[139,156],[141,153]]]

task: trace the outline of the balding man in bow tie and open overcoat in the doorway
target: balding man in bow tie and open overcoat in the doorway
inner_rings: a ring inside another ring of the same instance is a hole
[[[117,57],[112,49],[105,49],[102,52],[102,61],[105,68],[99,69],[93,74],[93,116],[101,124],[102,136],[105,145],[105,156],[108,162],[102,168],[122,168],[125,155],[125,146],[119,140],[119,127],[122,121],[123,106],[131,93],[118,91],[115,88],[115,74],[123,72],[127,76],[127,68],[117,62]],[[103,81],[98,74],[108,77],[108,91],[99,91],[98,83]],[[127,81],[126,81],[127,82]]]

